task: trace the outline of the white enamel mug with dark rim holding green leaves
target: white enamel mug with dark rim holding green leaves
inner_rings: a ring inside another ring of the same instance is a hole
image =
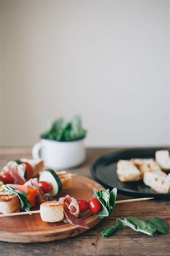
[[[32,157],[37,159],[41,151],[44,165],[51,169],[67,169],[85,161],[84,138],[70,142],[41,139],[32,148]]]

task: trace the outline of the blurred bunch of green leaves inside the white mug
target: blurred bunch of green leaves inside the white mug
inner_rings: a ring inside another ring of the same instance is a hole
[[[65,122],[63,117],[57,119],[41,138],[66,142],[82,139],[85,135],[86,130],[81,127],[81,117],[76,115],[70,122]]]

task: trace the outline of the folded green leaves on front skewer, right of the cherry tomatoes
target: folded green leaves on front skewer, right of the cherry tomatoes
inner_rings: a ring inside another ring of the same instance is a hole
[[[98,198],[102,206],[100,212],[94,215],[99,218],[109,216],[114,209],[116,195],[117,195],[117,188],[113,188],[111,192],[109,192],[109,189],[107,190],[99,189],[98,192],[96,192],[96,189],[94,188],[93,197]]]

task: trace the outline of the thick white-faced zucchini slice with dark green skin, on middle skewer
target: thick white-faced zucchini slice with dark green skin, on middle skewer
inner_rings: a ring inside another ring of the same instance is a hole
[[[41,172],[39,181],[47,181],[51,184],[52,189],[49,193],[45,194],[47,197],[56,197],[61,191],[62,183],[58,175],[52,169],[46,169]]]

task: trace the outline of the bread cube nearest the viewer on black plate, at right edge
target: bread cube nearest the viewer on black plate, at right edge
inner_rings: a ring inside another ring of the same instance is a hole
[[[168,193],[169,192],[169,177],[159,176],[152,179],[151,189],[156,193]]]

